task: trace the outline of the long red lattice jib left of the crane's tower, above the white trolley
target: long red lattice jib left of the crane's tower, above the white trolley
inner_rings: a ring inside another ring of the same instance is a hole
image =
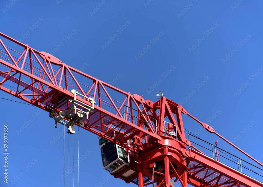
[[[83,128],[100,136],[107,134],[114,142],[130,134],[140,133],[144,142],[146,136],[156,136],[156,119],[146,113],[142,105],[146,101],[139,95],[119,90],[62,63],[48,53],[38,52],[4,34],[0,35],[3,36],[0,41],[1,90],[43,110],[54,110],[57,113],[74,107],[70,101],[74,99],[71,90],[75,90],[85,96],[77,96],[81,102],[77,110],[86,111],[82,106],[92,106],[88,98],[96,102],[88,120],[84,120]],[[152,103],[148,102],[149,105]],[[70,119],[66,117],[66,120]],[[125,143],[125,140],[121,142],[124,146]]]

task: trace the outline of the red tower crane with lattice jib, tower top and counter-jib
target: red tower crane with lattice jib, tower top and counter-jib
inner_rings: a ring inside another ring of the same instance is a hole
[[[215,153],[217,158],[193,146],[185,137],[182,114],[240,150],[172,100],[164,96],[157,102],[144,100],[3,33],[0,33],[0,43],[0,90],[48,111],[56,124],[66,125],[71,133],[77,125],[102,137],[104,142],[125,148],[128,164],[116,172],[108,169],[115,178],[139,187],[170,187],[175,182],[184,187],[188,184],[263,186],[262,182],[242,172],[244,160],[237,158],[237,170],[220,162],[213,146],[213,155]],[[14,44],[17,47],[12,49]],[[263,171],[259,161],[240,152],[257,163],[255,168]]]

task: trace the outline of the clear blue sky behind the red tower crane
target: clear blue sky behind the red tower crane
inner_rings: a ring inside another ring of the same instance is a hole
[[[261,1],[247,0],[3,0],[0,32],[121,90],[143,95],[145,100],[156,101],[161,91],[260,160],[261,7]],[[0,92],[0,97],[5,96],[8,94]],[[64,127],[54,128],[49,114],[34,106],[0,102],[2,134],[8,124],[9,180],[23,174],[13,186],[63,186],[64,135],[60,134]],[[225,148],[227,143],[221,139],[200,131],[200,124],[183,119],[188,131],[210,143],[218,140],[219,147],[239,154]],[[28,125],[23,129],[23,124]],[[50,143],[56,136],[58,141]],[[79,185],[98,186],[108,172],[102,168],[97,136],[80,129],[79,139],[79,155],[88,155],[79,164]],[[68,134],[65,140],[68,168]],[[75,162],[76,149],[77,143]],[[73,135],[70,150],[72,166]],[[3,158],[0,161],[2,165]],[[73,172],[71,185],[72,176]],[[2,175],[0,184],[7,186]],[[135,186],[111,177],[103,187],[118,185]]]

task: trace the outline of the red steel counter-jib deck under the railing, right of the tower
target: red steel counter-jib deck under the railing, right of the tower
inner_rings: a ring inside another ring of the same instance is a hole
[[[255,180],[230,169],[203,154],[191,149],[191,157],[186,159],[188,165],[188,180],[193,186],[263,186]]]

